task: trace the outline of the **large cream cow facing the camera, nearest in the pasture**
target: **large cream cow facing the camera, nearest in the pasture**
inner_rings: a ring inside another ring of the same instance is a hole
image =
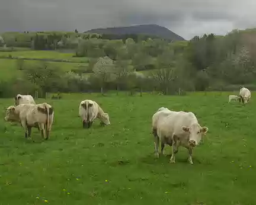
[[[206,134],[207,127],[201,127],[194,113],[171,111],[167,108],[152,116],[152,133],[154,136],[155,156],[159,157],[158,147],[161,139],[161,154],[164,154],[165,144],[172,146],[172,156],[169,162],[175,163],[178,148],[188,149],[188,162],[193,164],[193,149],[199,145],[201,134]]]

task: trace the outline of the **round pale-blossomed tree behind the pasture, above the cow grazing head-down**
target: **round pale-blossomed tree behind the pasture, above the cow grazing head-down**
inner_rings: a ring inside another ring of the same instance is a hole
[[[95,77],[101,87],[101,94],[103,94],[103,88],[107,82],[113,81],[116,76],[114,75],[114,62],[109,57],[100,57],[92,68]]]

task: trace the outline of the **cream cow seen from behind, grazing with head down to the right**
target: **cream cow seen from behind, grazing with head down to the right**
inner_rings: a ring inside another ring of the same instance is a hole
[[[83,100],[80,102],[79,117],[82,118],[84,128],[86,126],[88,126],[88,128],[91,127],[95,118],[99,118],[101,120],[101,125],[110,125],[108,113],[104,113],[100,105],[92,100]]]

